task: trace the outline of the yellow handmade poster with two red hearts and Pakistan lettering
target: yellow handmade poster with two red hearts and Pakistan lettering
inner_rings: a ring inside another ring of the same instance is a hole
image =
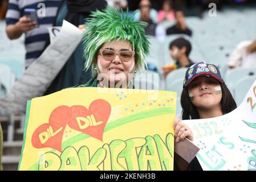
[[[19,170],[173,170],[176,93],[68,88],[27,104]]]

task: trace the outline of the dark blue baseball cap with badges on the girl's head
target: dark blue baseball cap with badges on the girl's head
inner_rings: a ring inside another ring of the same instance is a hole
[[[209,75],[216,78],[221,83],[224,83],[224,80],[221,76],[219,69],[214,64],[200,62],[193,64],[186,70],[186,75],[183,81],[183,88],[187,87],[194,78],[202,75]]]

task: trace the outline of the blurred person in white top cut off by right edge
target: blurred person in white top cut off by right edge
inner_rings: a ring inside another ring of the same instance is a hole
[[[229,58],[229,68],[256,67],[256,40],[243,41],[237,45]]]

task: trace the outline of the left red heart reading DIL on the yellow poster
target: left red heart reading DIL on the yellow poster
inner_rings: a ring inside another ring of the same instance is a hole
[[[50,115],[49,123],[40,125],[32,135],[32,146],[35,148],[50,147],[62,151],[62,137],[68,121],[70,121],[71,109],[68,106],[59,106]]]

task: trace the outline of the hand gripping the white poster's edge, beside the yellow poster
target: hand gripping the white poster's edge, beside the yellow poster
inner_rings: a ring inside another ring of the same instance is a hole
[[[183,141],[185,138],[188,138],[193,142],[193,133],[192,130],[180,121],[180,118],[174,119],[173,129],[175,130],[175,142]]]

